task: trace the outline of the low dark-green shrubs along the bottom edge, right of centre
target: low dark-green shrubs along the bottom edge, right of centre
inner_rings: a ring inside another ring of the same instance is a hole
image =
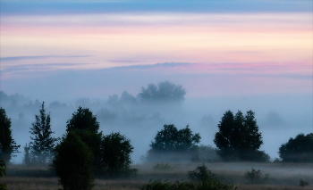
[[[150,181],[148,185],[141,186],[140,190],[232,190],[236,189],[233,185],[220,182],[215,175],[203,164],[197,169],[190,171],[191,181]]]

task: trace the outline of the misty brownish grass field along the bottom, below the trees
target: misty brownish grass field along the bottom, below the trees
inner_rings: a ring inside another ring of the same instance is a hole
[[[168,181],[188,180],[187,173],[202,163],[157,163],[134,165],[139,169],[138,175],[124,179],[96,178],[95,190],[134,190],[139,189],[149,180],[162,179]],[[255,163],[255,162],[210,162],[206,163],[208,169],[216,174],[220,180],[233,183],[239,190],[297,190],[313,189],[312,163]],[[259,169],[262,176],[269,174],[266,182],[250,184],[244,174],[251,169]],[[58,189],[57,177],[46,168],[25,168],[13,165],[7,168],[7,175],[0,183],[5,183],[9,190],[41,190]],[[300,186],[300,178],[307,181],[309,186]]]

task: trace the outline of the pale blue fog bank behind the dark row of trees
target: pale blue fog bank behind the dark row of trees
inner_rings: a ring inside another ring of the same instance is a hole
[[[147,87],[148,83],[146,86]],[[182,102],[158,100],[156,103],[140,102],[138,92],[124,91],[121,94],[106,97],[81,97],[69,101],[46,100],[43,96],[37,98],[22,94],[6,94],[1,92],[0,103],[7,116],[12,120],[13,138],[21,145],[13,162],[20,163],[23,146],[30,143],[30,127],[39,114],[39,106],[45,101],[47,112],[51,114],[51,127],[55,137],[63,136],[66,121],[79,106],[89,108],[100,122],[100,131],[105,135],[120,132],[131,139],[134,152],[131,155],[134,163],[140,163],[140,158],[148,152],[151,141],[165,124],[174,124],[176,128],[187,125],[194,133],[201,136],[201,145],[215,147],[213,139],[217,125],[224,112],[231,110],[256,114],[259,131],[262,133],[264,145],[260,150],[268,153],[273,161],[278,157],[278,148],[290,137],[299,133],[312,132],[312,96],[310,94],[288,95],[219,95],[208,97],[190,97],[187,95]],[[125,89],[126,90],[126,89]],[[16,92],[19,93],[19,92]]]

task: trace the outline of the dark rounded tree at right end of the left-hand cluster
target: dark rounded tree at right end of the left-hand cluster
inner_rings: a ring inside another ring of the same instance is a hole
[[[131,140],[120,133],[103,136],[101,142],[102,164],[109,177],[128,176],[131,166]]]

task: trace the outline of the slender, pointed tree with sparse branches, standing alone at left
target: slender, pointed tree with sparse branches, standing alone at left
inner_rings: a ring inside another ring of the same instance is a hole
[[[41,104],[39,115],[35,115],[35,122],[30,128],[30,153],[34,161],[39,164],[47,164],[52,158],[55,143],[58,140],[53,137],[54,132],[51,130],[50,113],[46,114],[45,102]]]

